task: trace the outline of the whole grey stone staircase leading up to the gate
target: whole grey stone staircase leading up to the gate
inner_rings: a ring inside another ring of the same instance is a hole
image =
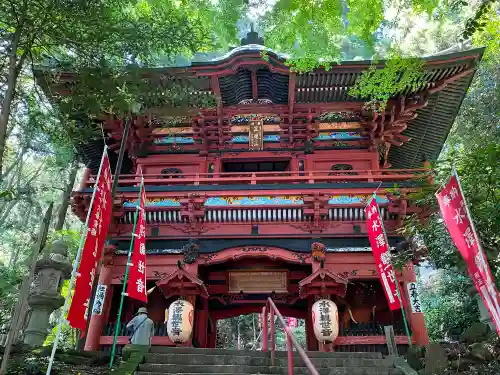
[[[277,352],[276,367],[270,353],[224,349],[152,347],[137,375],[287,374],[287,353]],[[392,358],[380,353],[307,353],[321,375],[402,375]],[[294,352],[294,375],[308,375]]]

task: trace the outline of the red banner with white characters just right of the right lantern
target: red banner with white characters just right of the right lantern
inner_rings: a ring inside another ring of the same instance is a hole
[[[398,297],[397,279],[391,263],[389,243],[385,235],[384,223],[380,216],[377,201],[373,198],[365,208],[366,224],[368,226],[368,238],[375,258],[380,282],[385,292],[389,308],[398,310],[401,303]]]

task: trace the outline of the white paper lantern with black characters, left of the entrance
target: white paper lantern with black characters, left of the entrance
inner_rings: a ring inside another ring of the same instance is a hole
[[[193,305],[184,300],[173,302],[168,309],[167,333],[175,343],[188,341],[193,332]]]

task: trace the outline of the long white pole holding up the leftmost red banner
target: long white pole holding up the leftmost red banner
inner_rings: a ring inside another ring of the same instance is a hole
[[[50,354],[50,360],[49,360],[49,364],[47,366],[47,372],[45,373],[45,375],[50,375],[50,372],[52,370],[52,365],[54,364],[54,358],[56,355],[57,345],[59,343],[59,339],[61,338],[62,325],[63,325],[63,322],[66,320],[66,314],[67,314],[68,308],[69,308],[69,300],[71,297],[71,291],[75,285],[76,278],[78,277],[78,266],[80,265],[80,260],[82,257],[83,244],[85,243],[85,239],[87,238],[90,214],[92,212],[92,207],[94,205],[95,194],[96,194],[96,191],[98,189],[97,183],[99,181],[99,178],[101,177],[102,163],[104,162],[104,157],[105,157],[105,155],[107,155],[107,153],[108,153],[108,146],[105,145],[104,151],[103,151],[102,157],[101,157],[101,164],[99,165],[99,171],[97,172],[97,176],[95,179],[94,192],[92,193],[92,198],[90,199],[90,205],[89,205],[89,209],[87,212],[87,218],[85,219],[85,226],[84,226],[84,229],[82,230],[81,235],[80,235],[80,243],[78,244],[78,250],[76,252],[75,261],[73,262],[73,271],[71,272],[71,279],[69,281],[68,292],[66,294],[66,299],[64,300],[62,314],[59,317],[59,323],[57,324],[56,337],[54,339],[54,344],[52,346],[52,353]]]

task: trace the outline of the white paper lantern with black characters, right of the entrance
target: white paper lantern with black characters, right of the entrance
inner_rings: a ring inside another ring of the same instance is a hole
[[[314,335],[318,341],[335,341],[339,335],[339,312],[330,300],[320,299],[312,307]]]

